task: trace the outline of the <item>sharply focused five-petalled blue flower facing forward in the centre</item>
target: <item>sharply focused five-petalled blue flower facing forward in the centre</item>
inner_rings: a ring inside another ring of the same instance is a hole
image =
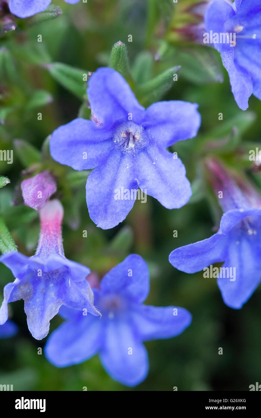
[[[59,127],[50,151],[54,160],[75,170],[98,166],[86,184],[93,222],[103,229],[122,222],[138,187],[168,209],[186,204],[191,188],[185,168],[165,148],[196,135],[197,104],[158,102],[145,110],[124,78],[110,68],[90,77],[88,98],[93,120],[79,118]],[[121,190],[135,193],[118,198]]]

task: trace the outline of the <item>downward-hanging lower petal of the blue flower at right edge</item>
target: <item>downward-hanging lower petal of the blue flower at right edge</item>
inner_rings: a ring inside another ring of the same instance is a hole
[[[230,278],[217,279],[222,298],[227,306],[234,309],[242,308],[261,282],[261,228],[257,235],[242,234],[241,228],[229,233],[230,245],[223,268],[231,268]],[[235,279],[235,280],[234,280]]]

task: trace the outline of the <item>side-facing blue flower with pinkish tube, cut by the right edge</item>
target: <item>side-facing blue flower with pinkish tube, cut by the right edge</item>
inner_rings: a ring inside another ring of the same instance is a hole
[[[261,196],[248,182],[228,175],[216,161],[209,161],[208,166],[215,176],[215,190],[223,193],[220,229],[206,240],[177,248],[169,261],[186,273],[224,262],[213,277],[218,277],[226,305],[238,309],[261,281]]]

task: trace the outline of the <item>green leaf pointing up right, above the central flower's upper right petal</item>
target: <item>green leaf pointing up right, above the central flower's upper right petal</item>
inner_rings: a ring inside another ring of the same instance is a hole
[[[137,95],[145,106],[158,102],[161,97],[173,86],[174,75],[178,73],[180,67],[171,67],[163,73],[154,77],[152,80],[140,84],[137,87]]]

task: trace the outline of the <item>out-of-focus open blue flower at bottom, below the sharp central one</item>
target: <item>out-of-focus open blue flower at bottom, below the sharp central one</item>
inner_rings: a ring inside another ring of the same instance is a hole
[[[94,289],[101,320],[61,308],[67,319],[47,340],[45,354],[57,367],[81,363],[99,353],[109,375],[127,386],[142,382],[148,372],[143,341],[181,334],[191,323],[184,308],[145,306],[149,271],[139,255],[129,255]]]

